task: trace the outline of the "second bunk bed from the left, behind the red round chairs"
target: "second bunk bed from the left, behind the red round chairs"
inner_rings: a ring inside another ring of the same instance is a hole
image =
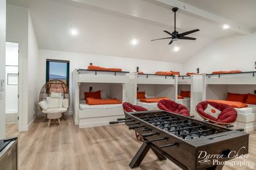
[[[167,97],[174,100],[177,90],[177,76],[174,75],[158,75],[158,74],[135,74],[136,84],[134,90],[136,92],[145,92],[147,99],[157,97]],[[145,103],[143,99],[134,97],[135,104],[147,108],[147,110],[159,110],[157,102]]]

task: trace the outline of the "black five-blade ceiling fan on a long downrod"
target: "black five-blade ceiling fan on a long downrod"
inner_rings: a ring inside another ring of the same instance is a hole
[[[159,39],[172,39],[170,41],[169,45],[172,44],[173,41],[177,41],[178,39],[196,40],[196,38],[188,37],[186,35],[191,34],[193,32],[196,32],[196,31],[199,31],[199,29],[194,29],[194,30],[191,30],[191,31],[182,32],[180,34],[179,34],[178,31],[176,31],[176,12],[178,11],[178,8],[176,8],[176,7],[172,8],[172,11],[174,12],[174,31],[172,33],[168,32],[168,31],[164,31],[167,34],[169,34],[171,37],[159,38]],[[159,39],[152,39],[151,41],[156,41],[156,40],[159,40]]]

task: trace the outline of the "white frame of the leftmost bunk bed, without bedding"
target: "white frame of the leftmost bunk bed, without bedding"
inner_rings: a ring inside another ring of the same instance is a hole
[[[109,121],[115,121],[116,118],[124,117],[122,107],[80,110],[79,90],[81,83],[122,84],[122,102],[125,102],[127,101],[127,98],[125,97],[125,83],[129,83],[129,76],[127,73],[129,72],[99,71],[88,69],[74,69],[74,71],[72,71],[73,115],[75,124],[79,125],[79,128],[108,125]]]

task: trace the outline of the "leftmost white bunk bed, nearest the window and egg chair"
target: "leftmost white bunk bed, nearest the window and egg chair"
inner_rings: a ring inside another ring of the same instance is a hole
[[[75,124],[79,125],[79,128],[108,125],[109,121],[124,117],[122,102],[126,101],[125,84],[129,83],[128,73],[126,71],[74,69],[72,72],[72,103]],[[84,98],[84,92],[90,91],[100,91],[101,97],[99,98],[102,100],[116,98],[121,103],[90,105],[91,103],[86,103],[90,97]]]

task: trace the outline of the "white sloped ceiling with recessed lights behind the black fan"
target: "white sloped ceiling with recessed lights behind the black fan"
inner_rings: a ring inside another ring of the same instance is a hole
[[[195,6],[199,2],[189,1]],[[223,1],[218,4],[222,6]],[[189,35],[198,38],[196,41],[179,40],[180,51],[173,52],[169,40],[150,41],[168,37],[163,30],[173,31],[170,6],[153,0],[19,0],[18,5],[30,8],[38,45],[48,50],[184,62],[216,39],[241,35],[181,10],[177,13],[177,30],[200,31]],[[207,10],[206,6],[196,7]],[[248,27],[252,27],[250,24]],[[70,35],[72,28],[79,31],[77,36]],[[138,45],[131,45],[133,38],[138,39]]]

